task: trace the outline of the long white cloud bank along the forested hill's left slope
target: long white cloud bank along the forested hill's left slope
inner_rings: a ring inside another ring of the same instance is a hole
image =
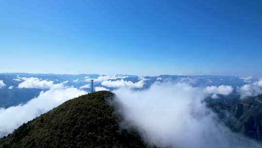
[[[11,133],[25,122],[62,104],[68,99],[85,94],[85,91],[66,87],[63,83],[54,85],[48,91],[40,92],[39,96],[24,105],[0,109],[0,137]]]

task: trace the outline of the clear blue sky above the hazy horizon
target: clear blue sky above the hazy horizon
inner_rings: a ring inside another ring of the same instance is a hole
[[[0,72],[262,76],[262,0],[0,0]]]

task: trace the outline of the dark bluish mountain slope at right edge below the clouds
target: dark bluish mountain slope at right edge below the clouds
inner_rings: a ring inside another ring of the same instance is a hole
[[[262,95],[246,98],[236,105],[216,103],[209,107],[233,131],[262,141]]]

